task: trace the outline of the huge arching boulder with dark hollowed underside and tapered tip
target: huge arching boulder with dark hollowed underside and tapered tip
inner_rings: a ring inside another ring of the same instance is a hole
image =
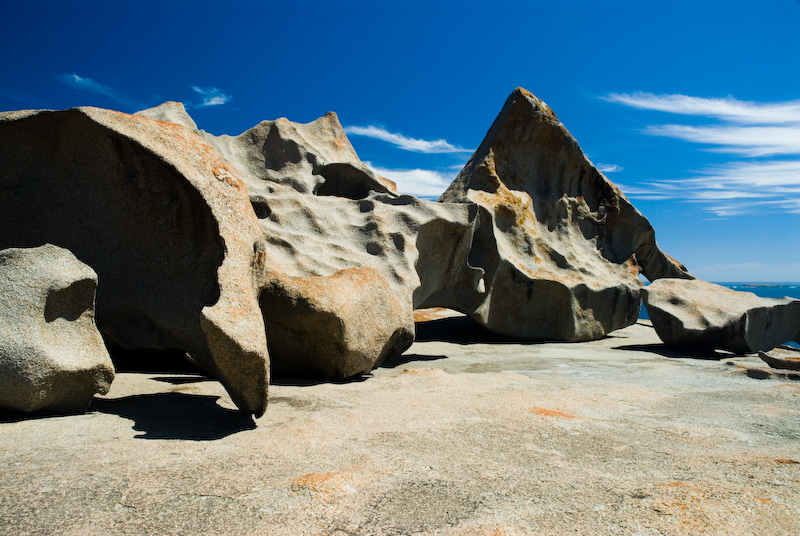
[[[44,243],[97,272],[107,339],[183,349],[264,412],[263,233],[238,173],[197,133],[97,108],[0,114],[0,248]]]

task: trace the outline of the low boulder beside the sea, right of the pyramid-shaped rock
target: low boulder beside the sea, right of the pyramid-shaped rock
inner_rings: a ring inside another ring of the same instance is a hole
[[[659,279],[644,290],[653,327],[665,344],[736,353],[800,342],[800,300],[761,298],[699,279]]]

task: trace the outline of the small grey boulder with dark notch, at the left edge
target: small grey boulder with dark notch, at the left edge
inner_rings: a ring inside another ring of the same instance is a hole
[[[0,251],[0,407],[85,410],[114,365],[94,322],[97,275],[69,251]]]

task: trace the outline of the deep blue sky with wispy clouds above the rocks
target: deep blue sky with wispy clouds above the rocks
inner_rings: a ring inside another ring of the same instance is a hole
[[[800,280],[797,0],[0,0],[0,19],[0,109],[177,100],[214,134],[333,110],[418,195],[522,86],[695,275]]]

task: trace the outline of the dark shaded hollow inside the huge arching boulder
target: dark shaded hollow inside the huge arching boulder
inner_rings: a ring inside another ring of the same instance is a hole
[[[205,340],[200,311],[219,299],[225,245],[185,178],[79,110],[0,123],[0,140],[0,248],[51,243],[91,266],[112,342]]]

